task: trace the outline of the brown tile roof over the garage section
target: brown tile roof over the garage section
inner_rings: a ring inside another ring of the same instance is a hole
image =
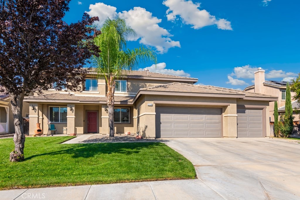
[[[265,98],[277,98],[266,94],[258,94],[253,92],[234,90],[229,88],[221,88],[211,85],[191,85],[187,83],[169,83],[164,85],[158,85],[150,88],[141,88],[140,91],[161,91],[161,92],[179,92],[179,93],[195,93],[195,94],[234,94],[245,95],[246,97],[265,97]]]

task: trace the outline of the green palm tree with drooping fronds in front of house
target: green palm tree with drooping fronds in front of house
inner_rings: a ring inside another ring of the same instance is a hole
[[[104,76],[107,83],[107,106],[109,116],[110,137],[114,137],[114,103],[115,79],[122,78],[128,70],[134,69],[139,63],[149,61],[157,63],[155,52],[143,46],[135,49],[126,48],[128,36],[135,36],[136,32],[126,25],[124,19],[107,18],[101,28],[102,34],[95,38],[95,44],[101,49],[94,63],[98,76]]]

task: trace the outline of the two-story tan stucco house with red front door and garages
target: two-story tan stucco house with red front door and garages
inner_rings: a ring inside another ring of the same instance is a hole
[[[82,92],[45,91],[26,97],[30,134],[36,123],[44,133],[55,124],[58,134],[109,133],[104,78],[90,72]],[[130,71],[116,80],[115,132],[144,137],[269,136],[269,102],[277,97],[209,85],[198,79]]]

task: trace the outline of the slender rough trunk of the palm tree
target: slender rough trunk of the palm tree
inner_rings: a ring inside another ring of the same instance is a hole
[[[107,79],[107,93],[106,100],[108,106],[108,123],[110,129],[110,137],[115,137],[115,80],[113,74],[110,74],[109,79]]]

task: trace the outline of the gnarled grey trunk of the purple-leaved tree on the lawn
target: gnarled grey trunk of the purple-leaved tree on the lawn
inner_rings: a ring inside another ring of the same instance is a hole
[[[25,135],[23,132],[23,118],[22,118],[22,108],[24,93],[19,95],[9,94],[11,109],[13,112],[13,124],[15,126],[15,134],[13,136],[13,142],[15,143],[15,149],[10,153],[9,160],[11,162],[18,162],[24,160],[24,144]]]

